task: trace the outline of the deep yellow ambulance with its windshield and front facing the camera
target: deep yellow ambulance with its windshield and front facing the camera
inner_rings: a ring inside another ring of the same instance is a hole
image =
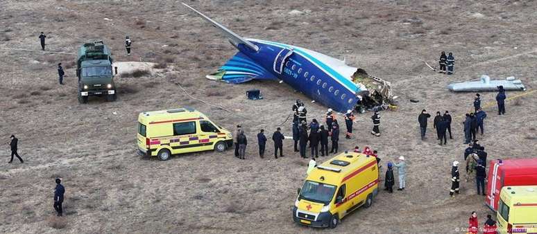
[[[377,195],[379,172],[373,156],[345,152],[309,173],[293,208],[298,224],[335,228],[360,206],[368,208]]]

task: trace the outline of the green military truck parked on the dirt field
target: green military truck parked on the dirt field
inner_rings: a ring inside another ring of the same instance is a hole
[[[86,103],[89,96],[104,96],[109,102],[116,100],[111,55],[103,41],[80,46],[76,62],[78,102]]]

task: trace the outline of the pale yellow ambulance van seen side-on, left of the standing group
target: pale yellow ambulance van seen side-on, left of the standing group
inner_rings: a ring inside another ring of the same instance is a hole
[[[138,115],[138,154],[158,156],[216,150],[233,145],[231,133],[215,125],[207,116],[188,107],[148,111]]]

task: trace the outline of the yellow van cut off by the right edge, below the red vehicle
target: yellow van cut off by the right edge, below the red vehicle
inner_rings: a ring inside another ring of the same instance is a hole
[[[496,220],[500,233],[537,233],[537,186],[502,188]]]

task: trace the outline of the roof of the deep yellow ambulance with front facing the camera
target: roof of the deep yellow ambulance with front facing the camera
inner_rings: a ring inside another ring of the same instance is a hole
[[[375,163],[377,163],[377,160],[374,156],[366,156],[366,154],[355,152],[342,153],[318,165],[309,173],[307,179],[339,185],[342,181],[350,179]],[[321,177],[324,177],[324,180],[321,180]]]

